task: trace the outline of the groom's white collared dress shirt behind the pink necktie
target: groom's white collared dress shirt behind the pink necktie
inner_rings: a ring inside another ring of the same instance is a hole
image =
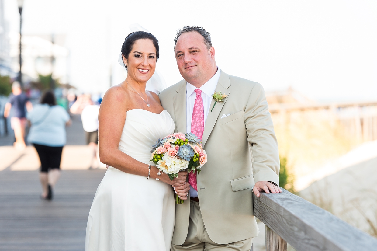
[[[212,101],[212,95],[215,92],[216,85],[219,82],[220,78],[220,69],[217,68],[217,71],[210,80],[208,80],[204,85],[201,86],[201,97],[203,99],[203,111],[204,111],[204,126],[205,120],[207,120],[208,112],[210,111],[210,105]],[[196,92],[198,89],[189,82],[186,85],[186,123],[187,123],[187,133],[191,132],[191,119],[192,112],[194,109]],[[190,185],[190,197],[198,197],[198,192]]]

